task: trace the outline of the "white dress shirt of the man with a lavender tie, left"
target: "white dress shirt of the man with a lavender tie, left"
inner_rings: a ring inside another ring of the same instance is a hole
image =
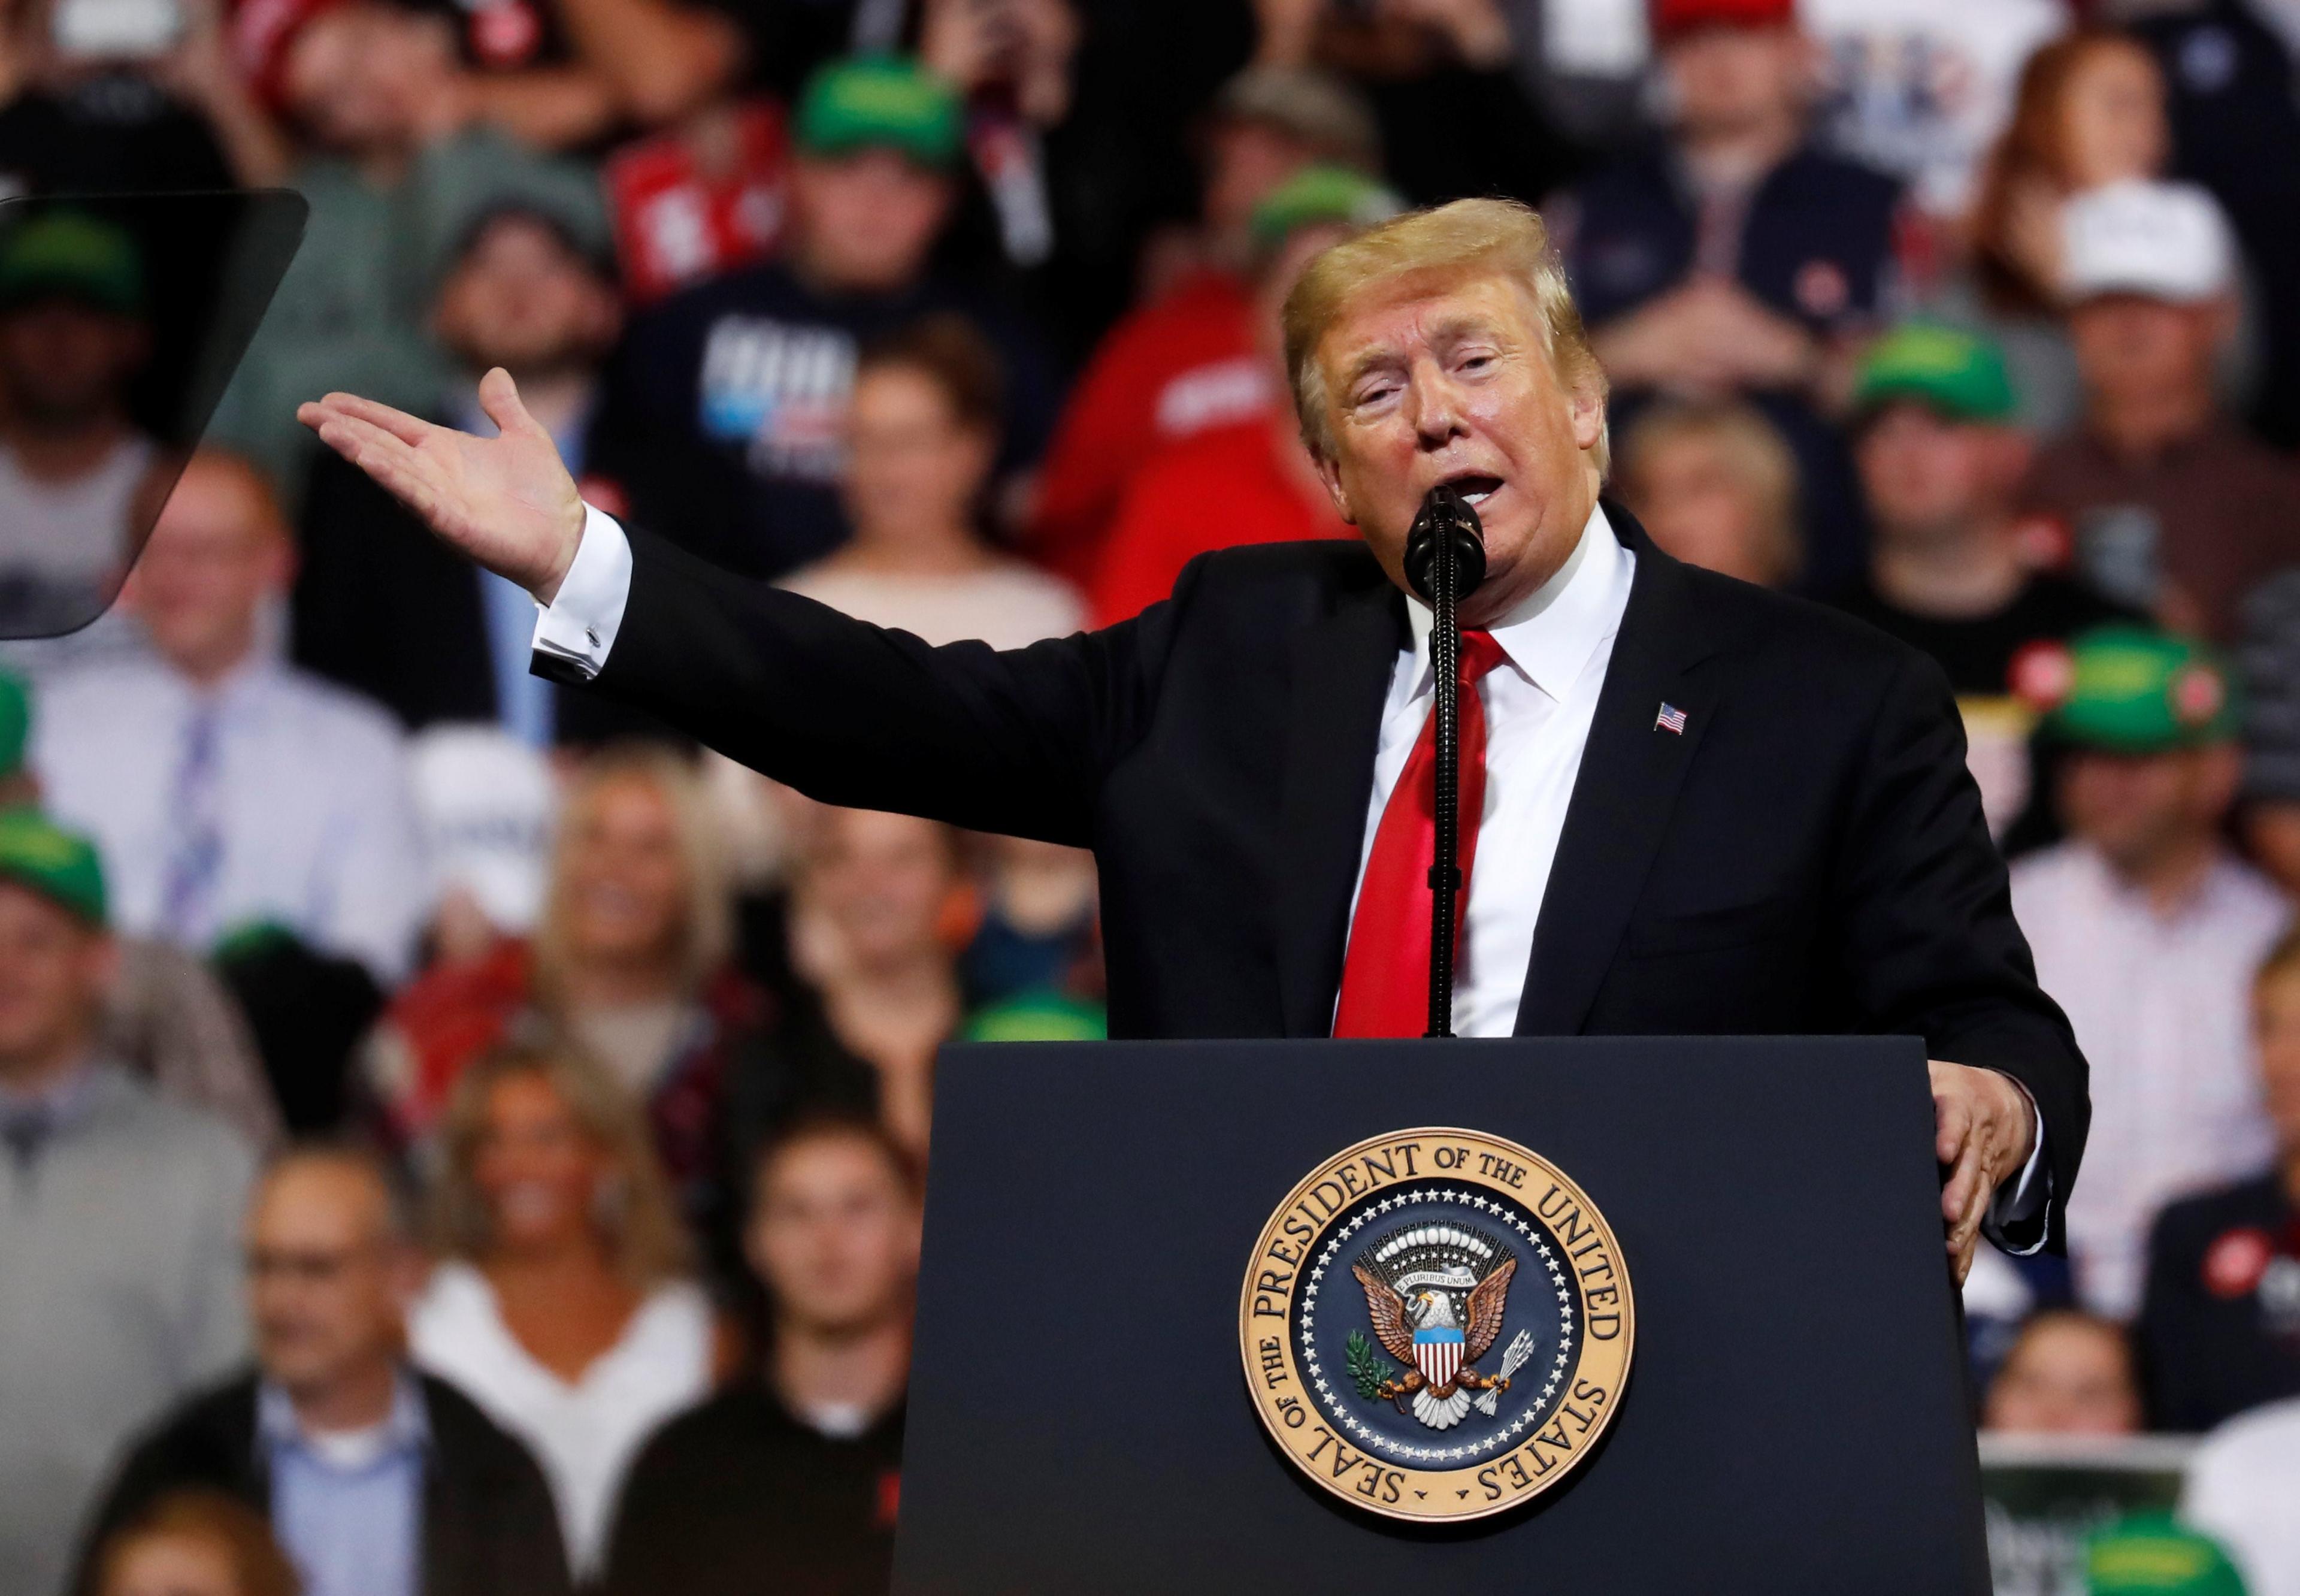
[[[57,821],[101,849],[113,922],[161,929],[177,768],[207,706],[223,849],[195,941],[276,922],[396,982],[430,908],[405,738],[375,704],[269,655],[207,692],[150,651],[44,683],[32,768]]]

